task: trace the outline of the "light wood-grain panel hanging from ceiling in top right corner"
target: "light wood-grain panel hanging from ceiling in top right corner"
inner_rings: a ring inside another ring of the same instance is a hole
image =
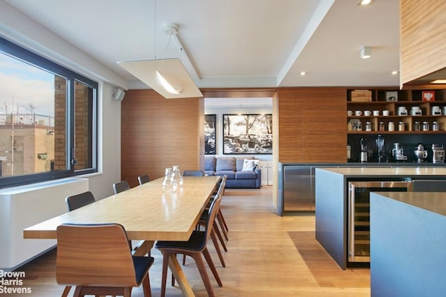
[[[400,84],[446,67],[446,1],[400,0]]]

